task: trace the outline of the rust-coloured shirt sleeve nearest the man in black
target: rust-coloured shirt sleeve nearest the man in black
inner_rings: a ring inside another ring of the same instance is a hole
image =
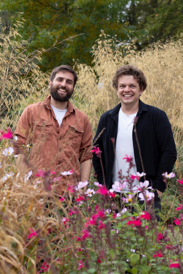
[[[81,138],[81,145],[79,148],[79,163],[92,159],[92,128],[86,117]]]

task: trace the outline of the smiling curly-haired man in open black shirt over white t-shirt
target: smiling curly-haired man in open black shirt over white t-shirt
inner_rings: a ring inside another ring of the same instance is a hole
[[[160,198],[166,189],[162,174],[172,172],[176,161],[176,146],[171,124],[166,113],[144,104],[140,96],[147,80],[139,68],[124,65],[116,70],[113,87],[120,104],[102,114],[94,146],[102,151],[102,165],[93,153],[93,166],[100,184],[112,187],[119,178],[125,179],[131,162],[130,175],[146,173],[141,180],[148,180],[155,189],[155,201],[160,208]],[[137,192],[138,180],[126,184],[122,192]]]

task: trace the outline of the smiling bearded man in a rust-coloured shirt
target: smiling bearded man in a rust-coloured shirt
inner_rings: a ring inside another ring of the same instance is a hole
[[[89,181],[91,174],[92,129],[86,114],[69,102],[76,81],[77,73],[71,67],[54,68],[50,95],[43,102],[27,106],[15,130],[18,140],[14,154],[21,172],[51,171],[59,178],[55,183],[57,195],[65,192],[68,183]],[[65,171],[70,175],[61,175]]]

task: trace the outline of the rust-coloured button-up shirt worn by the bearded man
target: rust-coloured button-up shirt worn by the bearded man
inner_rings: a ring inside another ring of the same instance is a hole
[[[31,104],[23,111],[15,134],[18,137],[14,154],[24,152],[22,144],[33,143],[29,161],[36,169],[53,170],[55,177],[73,169],[69,183],[79,180],[79,163],[92,159],[92,128],[83,112],[68,101],[68,109],[59,126],[49,95],[43,102]],[[66,176],[57,182],[56,193],[61,195],[67,186]]]

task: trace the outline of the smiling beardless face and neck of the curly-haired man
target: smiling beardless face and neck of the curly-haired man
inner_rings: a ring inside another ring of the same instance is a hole
[[[142,95],[143,90],[134,79],[133,75],[123,75],[118,79],[117,94],[123,106],[126,108],[138,108],[139,97]]]

